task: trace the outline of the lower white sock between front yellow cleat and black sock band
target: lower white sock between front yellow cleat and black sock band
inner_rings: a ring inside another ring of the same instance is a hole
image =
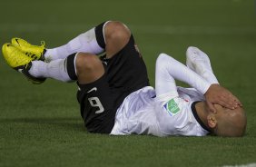
[[[54,60],[50,63],[44,63],[42,61],[33,61],[32,67],[28,71],[29,74],[34,77],[53,78],[62,82],[73,82],[67,71],[65,65],[65,59]]]

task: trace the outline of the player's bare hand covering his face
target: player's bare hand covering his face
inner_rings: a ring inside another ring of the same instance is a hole
[[[236,96],[219,84],[212,84],[204,96],[206,103],[213,113],[216,113],[216,109],[214,108],[213,104],[220,104],[223,107],[231,110],[242,106],[241,102]]]

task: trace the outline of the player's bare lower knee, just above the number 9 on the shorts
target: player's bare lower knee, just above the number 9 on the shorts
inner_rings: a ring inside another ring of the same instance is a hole
[[[102,62],[94,54],[79,53],[76,55],[75,68],[78,75],[82,73],[94,72],[98,68],[102,68],[102,66]]]

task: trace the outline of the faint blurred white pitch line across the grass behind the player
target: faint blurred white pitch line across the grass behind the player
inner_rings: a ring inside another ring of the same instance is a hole
[[[18,33],[64,33],[83,32],[94,25],[83,24],[0,24],[0,35]],[[129,25],[133,32],[141,34],[251,34],[256,35],[256,26],[211,26],[211,25]]]

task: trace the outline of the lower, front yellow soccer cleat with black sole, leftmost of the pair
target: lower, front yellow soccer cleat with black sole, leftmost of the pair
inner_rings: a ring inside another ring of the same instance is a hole
[[[16,71],[25,74],[25,77],[32,83],[44,83],[45,78],[36,78],[28,73],[32,66],[33,58],[24,54],[20,49],[16,48],[13,44],[4,44],[2,52],[5,61]]]

